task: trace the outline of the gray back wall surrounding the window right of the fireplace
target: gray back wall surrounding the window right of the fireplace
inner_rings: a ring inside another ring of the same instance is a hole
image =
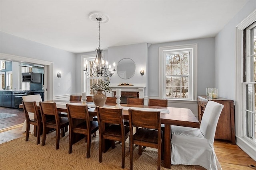
[[[206,95],[206,88],[214,86],[214,38],[193,39],[151,45],[148,49],[148,96],[159,96],[159,47],[198,43],[198,95]]]

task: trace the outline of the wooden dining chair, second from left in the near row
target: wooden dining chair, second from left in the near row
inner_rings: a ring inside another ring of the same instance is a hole
[[[47,128],[56,130],[56,149],[59,149],[60,145],[60,129],[61,136],[65,136],[65,127],[68,126],[67,117],[59,117],[56,103],[39,102],[42,122],[43,122],[43,141],[42,146],[45,145]],[[46,115],[54,115],[55,119],[52,121],[46,121]]]

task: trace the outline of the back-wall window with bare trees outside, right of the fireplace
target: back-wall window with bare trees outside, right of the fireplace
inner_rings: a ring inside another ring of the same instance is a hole
[[[197,44],[159,48],[160,98],[196,100]]]

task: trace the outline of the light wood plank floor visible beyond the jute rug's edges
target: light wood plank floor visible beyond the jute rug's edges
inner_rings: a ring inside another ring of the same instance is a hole
[[[22,125],[18,125],[17,127],[12,126],[9,129],[0,128],[0,144],[25,136],[25,132],[22,132],[21,129]],[[226,141],[215,140],[214,150],[223,170],[256,170],[256,162],[237,145],[232,145]],[[250,168],[248,165],[253,165],[254,168]],[[205,169],[201,166],[196,166],[196,170]]]

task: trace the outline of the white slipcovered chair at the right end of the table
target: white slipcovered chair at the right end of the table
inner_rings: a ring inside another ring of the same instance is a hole
[[[207,170],[221,170],[214,152],[214,136],[224,106],[209,101],[200,129],[172,125],[171,164],[200,165]]]

